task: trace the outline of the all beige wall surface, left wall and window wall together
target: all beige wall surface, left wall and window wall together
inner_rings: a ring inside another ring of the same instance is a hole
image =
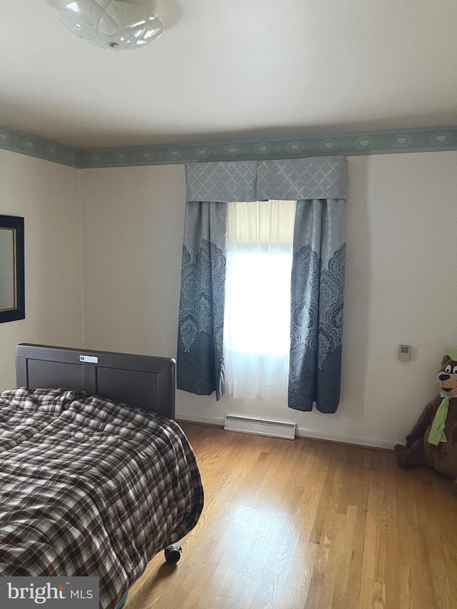
[[[181,418],[261,416],[294,421],[301,435],[391,446],[436,395],[441,356],[457,346],[457,152],[348,161],[337,413],[178,391]],[[79,171],[0,151],[0,184],[0,213],[26,218],[26,319],[0,324],[0,390],[15,384],[19,342],[175,356],[182,166]],[[398,361],[400,343],[413,346],[408,363]]]

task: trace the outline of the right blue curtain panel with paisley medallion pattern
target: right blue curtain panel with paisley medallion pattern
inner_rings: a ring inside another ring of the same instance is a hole
[[[341,386],[346,243],[343,199],[297,201],[288,406],[334,413]]]

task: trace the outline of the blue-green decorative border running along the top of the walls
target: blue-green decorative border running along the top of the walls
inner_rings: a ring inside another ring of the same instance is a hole
[[[306,156],[343,156],[457,150],[457,126],[376,131],[325,137],[288,138],[159,146],[76,149],[0,127],[0,149],[87,169],[170,165],[196,161],[238,161]]]

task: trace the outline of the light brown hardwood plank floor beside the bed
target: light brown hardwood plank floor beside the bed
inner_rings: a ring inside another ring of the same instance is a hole
[[[456,609],[457,493],[393,453],[181,423],[205,508],[125,609]]]

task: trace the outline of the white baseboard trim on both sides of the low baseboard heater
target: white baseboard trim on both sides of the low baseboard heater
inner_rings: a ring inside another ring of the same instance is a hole
[[[189,421],[189,423],[202,423],[204,425],[213,425],[217,427],[224,427],[225,421],[224,416],[196,415],[184,412],[176,412],[176,419],[179,421]],[[363,436],[348,436],[344,433],[314,431],[313,429],[306,429],[304,427],[296,428],[296,438],[323,440],[339,444],[353,444],[354,446],[363,446],[366,448],[383,448],[387,451],[393,451],[393,447],[398,443],[388,440],[377,440],[376,438],[365,438]]]

